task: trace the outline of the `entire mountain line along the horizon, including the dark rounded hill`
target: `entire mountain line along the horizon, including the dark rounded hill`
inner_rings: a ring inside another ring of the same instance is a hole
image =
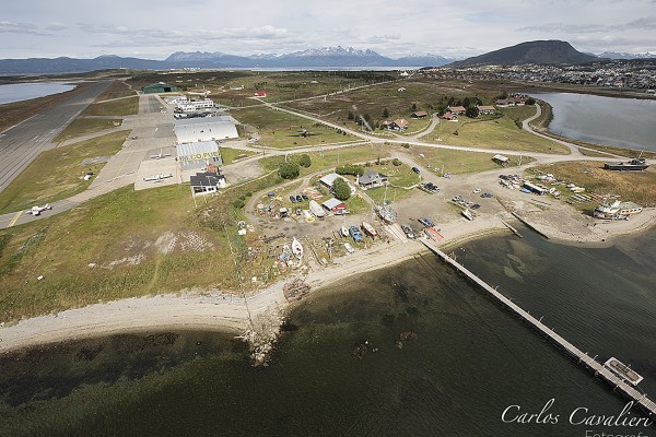
[[[219,51],[177,51],[164,60],[99,56],[93,59],[30,58],[0,59],[0,75],[58,74],[94,70],[127,68],[133,70],[198,69],[339,69],[339,68],[420,68],[469,66],[582,64],[610,59],[656,58],[656,55],[604,52],[599,56],[583,54],[562,40],[536,40],[517,44],[465,60],[437,55],[388,58],[374,50],[353,47],[312,48],[291,54],[227,55]]]

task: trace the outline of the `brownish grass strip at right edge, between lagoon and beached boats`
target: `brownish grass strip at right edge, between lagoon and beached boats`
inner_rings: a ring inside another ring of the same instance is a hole
[[[656,206],[656,168],[649,167],[647,172],[610,172],[602,167],[597,162],[564,162],[538,166],[536,169],[584,187],[586,192],[619,196],[622,201]]]

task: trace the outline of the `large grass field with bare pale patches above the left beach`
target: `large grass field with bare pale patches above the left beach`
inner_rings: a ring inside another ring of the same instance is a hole
[[[126,187],[0,231],[0,320],[190,287],[239,290],[237,277],[262,275],[265,259],[256,233],[237,235],[244,210],[232,202],[279,181],[229,189],[198,210],[187,185]]]

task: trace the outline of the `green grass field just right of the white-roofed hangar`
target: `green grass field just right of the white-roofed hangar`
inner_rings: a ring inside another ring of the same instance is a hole
[[[293,149],[307,145],[341,143],[356,138],[342,134],[321,123],[293,116],[281,110],[272,110],[263,106],[233,109],[231,115],[239,122],[256,128],[259,137],[258,144],[276,149]],[[311,132],[301,137],[300,130]]]

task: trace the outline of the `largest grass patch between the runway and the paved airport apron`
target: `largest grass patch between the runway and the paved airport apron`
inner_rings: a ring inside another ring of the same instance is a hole
[[[42,152],[0,192],[0,213],[30,209],[39,203],[66,199],[85,190],[86,172],[98,174],[104,164],[81,165],[84,158],[116,154],[129,131],[114,132],[63,147]]]

